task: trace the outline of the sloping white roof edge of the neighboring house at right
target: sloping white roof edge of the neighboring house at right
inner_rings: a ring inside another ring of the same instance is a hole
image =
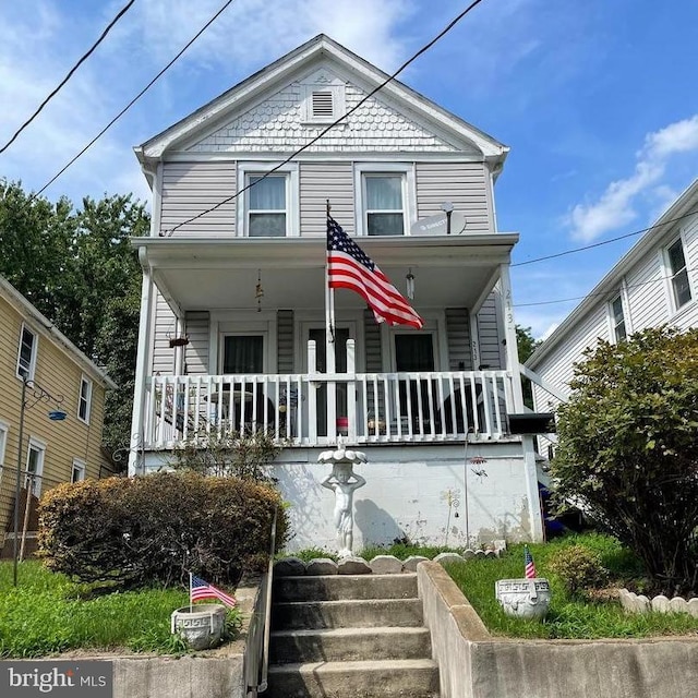
[[[691,212],[693,209],[693,212]],[[593,287],[587,297],[559,324],[545,341],[529,357],[526,365],[535,366],[561,345],[567,334],[587,313],[605,302],[605,297],[617,289],[621,279],[630,268],[653,248],[662,243],[671,225],[687,214],[698,213],[698,179],[682,193],[682,195],[654,221],[647,232],[625,253],[618,263]]]

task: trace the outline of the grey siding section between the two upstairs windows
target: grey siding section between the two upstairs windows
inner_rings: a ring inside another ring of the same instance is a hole
[[[351,163],[301,163],[301,236],[327,232],[327,200],[332,217],[353,234],[353,179]]]

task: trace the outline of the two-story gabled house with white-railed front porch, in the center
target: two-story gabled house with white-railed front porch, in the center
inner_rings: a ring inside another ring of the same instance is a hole
[[[130,472],[197,431],[268,429],[286,446],[274,474],[292,545],[332,545],[317,456],[345,434],[369,459],[357,546],[538,540],[532,438],[508,428],[524,411],[518,236],[497,231],[493,193],[508,148],[397,81],[368,97],[386,79],[320,35],[136,148],[153,228],[133,241]],[[402,293],[413,287],[423,329],[376,324],[341,289],[327,342],[326,202]]]

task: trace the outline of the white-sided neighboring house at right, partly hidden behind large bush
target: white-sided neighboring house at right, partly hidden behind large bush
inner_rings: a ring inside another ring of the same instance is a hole
[[[526,362],[549,388],[533,384],[535,409],[554,410],[569,392],[575,363],[600,339],[617,342],[660,325],[698,326],[698,180]],[[544,438],[541,445],[552,447]]]

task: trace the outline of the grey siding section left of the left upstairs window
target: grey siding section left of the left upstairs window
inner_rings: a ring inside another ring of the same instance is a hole
[[[236,163],[165,163],[160,231],[220,204],[237,192]],[[230,237],[236,233],[236,200],[172,232],[173,237]]]

